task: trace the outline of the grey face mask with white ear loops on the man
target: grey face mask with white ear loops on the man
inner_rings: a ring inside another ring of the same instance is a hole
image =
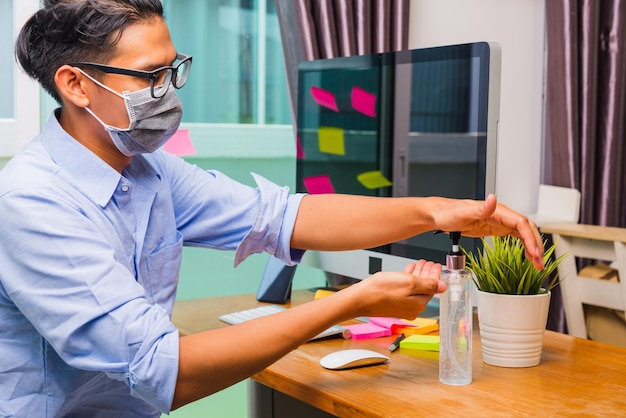
[[[130,121],[128,128],[125,129],[107,125],[89,107],[85,107],[85,110],[106,129],[122,154],[132,157],[154,152],[178,130],[183,117],[183,105],[174,89],[168,89],[163,97],[157,99],[152,97],[150,87],[120,94],[83,70],[79,71],[100,87],[124,99]]]

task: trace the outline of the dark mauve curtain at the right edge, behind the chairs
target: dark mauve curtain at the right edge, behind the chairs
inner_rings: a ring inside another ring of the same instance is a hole
[[[545,4],[542,181],[580,190],[581,223],[626,227],[626,0]],[[548,328],[565,331],[552,311]]]

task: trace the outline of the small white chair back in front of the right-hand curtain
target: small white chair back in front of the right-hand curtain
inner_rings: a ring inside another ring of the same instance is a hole
[[[554,222],[578,223],[580,192],[568,187],[539,185],[537,212],[528,215],[538,227]]]

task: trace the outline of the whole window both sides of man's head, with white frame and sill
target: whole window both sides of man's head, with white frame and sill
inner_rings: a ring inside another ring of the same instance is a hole
[[[162,3],[174,44],[193,55],[189,82],[177,93],[197,157],[295,156],[274,0]],[[0,90],[0,97],[14,97],[0,106],[0,167],[3,157],[15,155],[38,134],[40,122],[58,106],[13,58],[15,28],[38,7],[39,0],[0,1],[0,65],[11,63],[6,72],[0,68],[15,81]]]

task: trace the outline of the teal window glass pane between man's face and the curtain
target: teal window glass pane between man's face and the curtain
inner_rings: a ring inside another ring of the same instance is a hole
[[[193,69],[178,93],[183,122],[291,124],[273,0],[163,0],[179,52]]]

